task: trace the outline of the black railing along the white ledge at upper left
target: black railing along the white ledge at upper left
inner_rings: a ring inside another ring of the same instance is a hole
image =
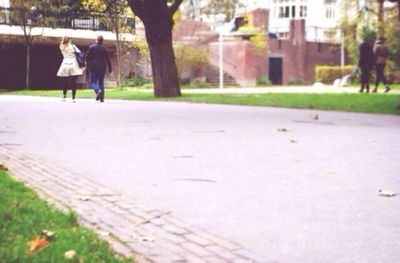
[[[130,33],[135,33],[135,19],[119,16],[129,28]],[[70,28],[86,30],[113,31],[113,21],[116,17],[104,14],[91,13],[77,10],[55,11],[26,8],[0,8],[0,24],[20,25],[29,27]]]

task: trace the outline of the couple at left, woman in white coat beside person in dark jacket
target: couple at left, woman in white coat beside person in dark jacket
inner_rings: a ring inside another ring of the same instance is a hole
[[[63,37],[60,43],[63,61],[57,72],[62,78],[63,101],[67,97],[67,90],[72,90],[72,101],[75,102],[77,78],[82,75],[85,65],[79,65],[76,54],[81,51],[72,44],[69,37]],[[104,77],[106,69],[112,72],[110,58],[107,49],[103,46],[103,37],[98,36],[96,43],[89,47],[86,54],[86,62],[90,70],[90,86],[96,93],[96,100],[104,102]]]

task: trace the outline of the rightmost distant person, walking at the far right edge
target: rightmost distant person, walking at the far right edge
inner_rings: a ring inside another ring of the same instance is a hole
[[[386,60],[389,56],[389,49],[385,44],[385,39],[383,37],[379,37],[375,41],[373,51],[375,54],[375,70],[376,70],[376,81],[373,92],[374,93],[378,92],[378,86],[381,81],[386,87],[385,92],[389,92],[390,91],[389,83],[385,77],[385,65],[386,65]]]

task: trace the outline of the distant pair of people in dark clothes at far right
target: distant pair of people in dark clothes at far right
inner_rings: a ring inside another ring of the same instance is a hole
[[[374,44],[374,47],[364,40],[359,47],[360,57],[358,61],[358,66],[361,69],[361,89],[360,92],[363,92],[364,89],[366,92],[369,92],[369,76],[370,71],[375,67],[376,72],[376,80],[375,80],[375,88],[372,92],[378,92],[379,83],[382,83],[386,86],[385,92],[389,92],[389,83],[385,77],[385,65],[386,60],[389,56],[389,49],[385,44],[385,39],[383,37],[379,37]]]

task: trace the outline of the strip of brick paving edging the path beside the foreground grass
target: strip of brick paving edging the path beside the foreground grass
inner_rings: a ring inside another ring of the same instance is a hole
[[[0,163],[18,180],[82,226],[137,262],[263,262],[253,252],[186,222],[169,211],[145,207],[105,186],[0,145]]]

